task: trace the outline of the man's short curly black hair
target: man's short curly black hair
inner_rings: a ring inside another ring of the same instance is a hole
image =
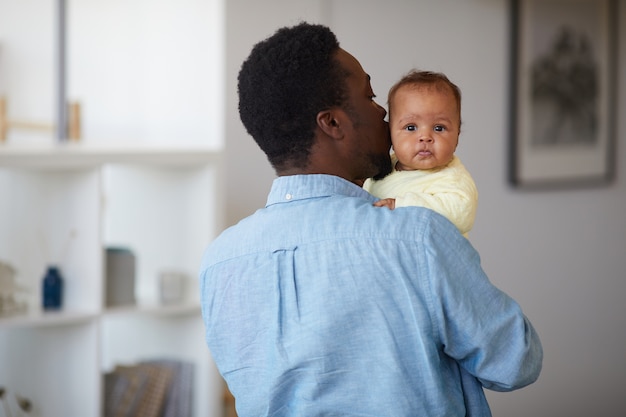
[[[239,71],[239,116],[279,172],[306,167],[317,114],[347,100],[339,42],[326,26],[300,23],[257,43]]]

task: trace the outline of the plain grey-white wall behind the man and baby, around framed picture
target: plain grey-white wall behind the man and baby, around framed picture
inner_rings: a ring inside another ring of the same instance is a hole
[[[260,2],[259,2],[260,3]],[[471,240],[492,281],[516,298],[543,341],[537,383],[488,393],[494,416],[623,416],[626,395],[626,119],[607,187],[531,192],[507,184],[506,0],[228,0],[228,223],[265,203],[274,173],[241,126],[236,76],[252,45],[299,18],[325,23],[372,75],[384,103],[411,67],[447,73],[463,91],[458,153],[480,205]],[[626,1],[620,0],[620,22]],[[618,115],[626,107],[626,30],[619,34]]]

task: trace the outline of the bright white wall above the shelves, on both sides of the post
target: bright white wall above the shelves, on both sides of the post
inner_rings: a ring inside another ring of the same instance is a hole
[[[81,140],[221,148],[223,0],[67,0],[67,99]],[[56,122],[57,1],[0,0],[0,96],[11,120]],[[10,129],[8,142],[53,131]]]

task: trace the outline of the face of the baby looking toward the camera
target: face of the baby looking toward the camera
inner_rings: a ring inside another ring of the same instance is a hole
[[[461,123],[452,91],[407,85],[398,89],[389,104],[396,169],[433,169],[452,160]]]

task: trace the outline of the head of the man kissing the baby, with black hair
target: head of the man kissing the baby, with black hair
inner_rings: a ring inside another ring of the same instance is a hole
[[[254,46],[238,82],[241,120],[279,175],[326,173],[353,181],[386,169],[386,112],[373,101],[369,76],[329,28],[279,29]],[[365,158],[376,167],[366,167]]]

